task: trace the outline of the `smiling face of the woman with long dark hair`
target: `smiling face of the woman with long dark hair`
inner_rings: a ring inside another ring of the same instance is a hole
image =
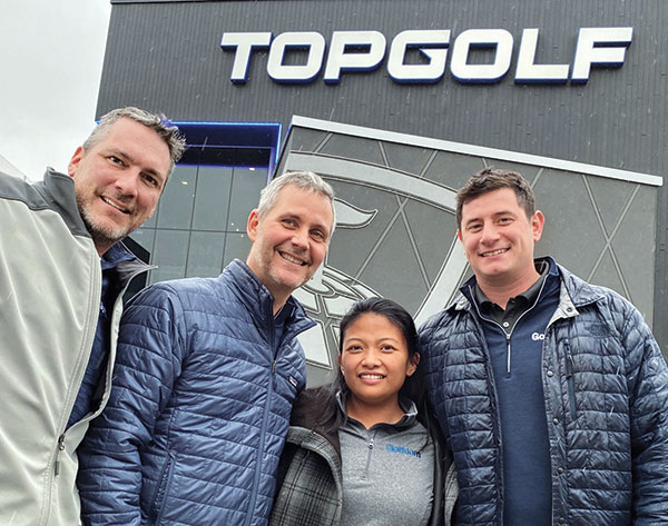
[[[399,389],[415,373],[420,355],[409,358],[401,330],[385,316],[366,312],[348,325],[338,365],[354,401],[384,407],[399,403]]]

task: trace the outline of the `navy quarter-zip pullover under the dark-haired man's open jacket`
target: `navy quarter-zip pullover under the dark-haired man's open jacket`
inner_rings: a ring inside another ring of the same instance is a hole
[[[550,443],[542,387],[542,343],[559,304],[559,275],[552,262],[533,286],[511,298],[507,312],[471,286],[485,343],[501,425],[507,525],[550,526],[552,517]]]

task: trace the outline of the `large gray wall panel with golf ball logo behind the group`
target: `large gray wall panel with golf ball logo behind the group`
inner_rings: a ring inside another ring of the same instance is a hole
[[[453,299],[470,275],[454,196],[485,166],[531,182],[547,217],[537,256],[617,290],[651,326],[660,177],[294,117],[278,172],[313,170],[336,191],[325,264],[295,292],[317,322],[301,337],[310,385],[335,367],[338,321],[355,300],[394,299],[420,325]]]

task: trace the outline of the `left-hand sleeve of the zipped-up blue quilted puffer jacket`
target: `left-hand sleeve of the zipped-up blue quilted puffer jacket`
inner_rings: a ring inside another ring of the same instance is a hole
[[[78,450],[87,526],[141,523],[141,453],[180,374],[183,327],[179,298],[164,284],[136,296],[122,316],[109,401]]]

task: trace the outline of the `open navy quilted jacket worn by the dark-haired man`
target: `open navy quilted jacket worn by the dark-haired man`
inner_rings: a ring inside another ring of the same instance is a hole
[[[668,524],[668,369],[642,317],[559,267],[542,383],[552,524]],[[428,389],[454,453],[456,525],[503,524],[494,381],[478,317],[459,296],[420,330]]]

